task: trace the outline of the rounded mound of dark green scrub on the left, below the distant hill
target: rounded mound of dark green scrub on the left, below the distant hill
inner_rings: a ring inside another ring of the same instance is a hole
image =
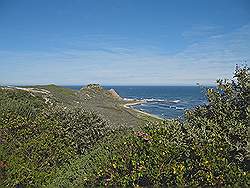
[[[109,132],[82,109],[48,105],[26,91],[0,90],[0,170],[5,186],[38,186]]]

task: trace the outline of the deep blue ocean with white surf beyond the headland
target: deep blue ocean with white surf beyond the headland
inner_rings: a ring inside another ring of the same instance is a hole
[[[66,86],[79,90],[82,86]],[[146,103],[132,106],[163,118],[182,118],[184,111],[207,102],[205,89],[199,86],[104,86],[115,89],[125,99]]]

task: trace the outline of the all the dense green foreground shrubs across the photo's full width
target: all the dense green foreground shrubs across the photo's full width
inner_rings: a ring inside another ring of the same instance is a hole
[[[250,186],[247,67],[237,67],[232,81],[218,80],[208,104],[184,121],[136,129],[111,130],[82,108],[0,92],[2,185]]]

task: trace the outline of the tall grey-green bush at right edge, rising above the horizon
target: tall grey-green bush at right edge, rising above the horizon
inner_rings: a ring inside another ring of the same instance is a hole
[[[237,67],[233,81],[218,80],[217,83],[216,89],[208,89],[209,105],[188,111],[186,121],[191,126],[220,136],[223,143],[228,144],[224,152],[227,152],[230,162],[244,166],[250,110],[249,68]],[[206,121],[214,123],[214,127],[202,127]]]

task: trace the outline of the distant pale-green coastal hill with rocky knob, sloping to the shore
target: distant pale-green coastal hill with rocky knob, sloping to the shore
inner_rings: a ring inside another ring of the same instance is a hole
[[[94,112],[106,119],[112,127],[136,127],[146,123],[147,119],[157,120],[157,117],[126,108],[127,104],[138,101],[125,101],[114,89],[106,90],[99,84],[89,84],[80,91],[54,84],[5,89],[26,91],[30,95],[42,97],[46,103],[65,106],[65,108],[78,107]]]

